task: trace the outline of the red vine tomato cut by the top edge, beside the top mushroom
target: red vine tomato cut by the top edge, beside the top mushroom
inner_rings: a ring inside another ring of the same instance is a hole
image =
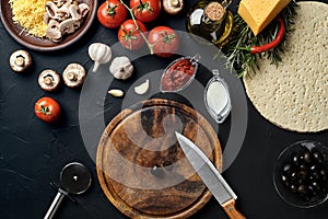
[[[142,22],[154,21],[161,13],[161,0],[131,0],[130,9],[134,16]]]

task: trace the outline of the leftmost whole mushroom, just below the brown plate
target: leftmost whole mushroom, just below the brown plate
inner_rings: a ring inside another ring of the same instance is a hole
[[[9,64],[12,70],[22,72],[32,65],[32,57],[25,50],[16,50],[10,56]]]

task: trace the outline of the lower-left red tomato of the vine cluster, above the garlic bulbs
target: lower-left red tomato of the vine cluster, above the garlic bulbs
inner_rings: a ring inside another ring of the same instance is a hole
[[[136,20],[139,30],[137,28],[132,19],[125,21],[119,30],[118,30],[118,41],[119,43],[127,49],[136,50],[141,48],[144,44],[144,39],[142,38],[140,31],[147,34],[145,25]]]

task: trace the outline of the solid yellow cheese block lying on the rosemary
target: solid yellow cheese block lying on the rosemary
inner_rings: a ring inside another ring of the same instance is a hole
[[[290,0],[242,0],[238,14],[245,20],[253,33],[260,33]]]

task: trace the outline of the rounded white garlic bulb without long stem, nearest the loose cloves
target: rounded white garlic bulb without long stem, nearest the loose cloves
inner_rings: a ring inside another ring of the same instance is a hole
[[[128,57],[116,57],[109,66],[109,71],[116,79],[126,80],[132,74],[133,66]]]

